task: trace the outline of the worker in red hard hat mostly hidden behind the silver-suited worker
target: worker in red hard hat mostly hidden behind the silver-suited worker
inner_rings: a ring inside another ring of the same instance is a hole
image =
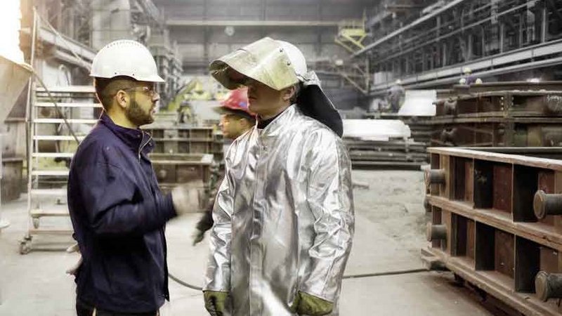
[[[248,88],[238,88],[230,91],[225,100],[221,102],[221,106],[215,107],[214,110],[221,114],[221,127],[223,136],[230,140],[242,136],[256,124],[256,114],[248,109]],[[216,181],[217,185],[221,185],[222,179]],[[193,235],[193,245],[201,242],[204,233],[213,227],[213,207],[216,188],[211,192],[212,201],[209,203],[207,210],[197,222],[196,231]]]

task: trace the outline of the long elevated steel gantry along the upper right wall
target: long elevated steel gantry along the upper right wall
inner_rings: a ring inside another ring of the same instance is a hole
[[[377,32],[353,54],[370,60],[372,93],[400,78],[412,88],[459,80],[463,67],[490,77],[560,64],[561,0],[454,0]],[[380,28],[380,25],[377,26]]]

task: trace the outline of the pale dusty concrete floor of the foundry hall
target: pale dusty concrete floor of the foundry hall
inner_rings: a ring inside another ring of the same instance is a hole
[[[423,268],[420,249],[427,246],[423,173],[353,171],[353,177],[370,188],[355,189],[355,239],[346,275]],[[2,216],[11,226],[0,234],[0,315],[75,315],[74,282],[65,269],[77,255],[64,251],[18,253],[19,240],[27,230],[26,206],[22,195],[2,208]],[[170,272],[200,286],[207,242],[191,246],[199,216],[190,214],[171,221],[166,235]],[[41,225],[50,224],[55,223]],[[51,244],[53,240],[43,237],[37,242]],[[59,241],[65,246],[69,239]],[[199,291],[170,281],[170,292],[171,301],[162,308],[163,316],[207,315]],[[345,279],[340,315],[493,314],[470,291],[457,287],[450,272],[419,272]]]

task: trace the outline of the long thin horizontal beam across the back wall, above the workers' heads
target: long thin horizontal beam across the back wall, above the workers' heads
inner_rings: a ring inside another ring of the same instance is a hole
[[[169,27],[337,27],[339,21],[168,20]]]

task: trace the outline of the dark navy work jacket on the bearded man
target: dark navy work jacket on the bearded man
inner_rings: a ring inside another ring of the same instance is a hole
[[[164,225],[176,216],[147,154],[148,133],[107,114],[79,145],[68,178],[68,206],[84,258],[77,299],[100,310],[152,312],[169,299]]]

